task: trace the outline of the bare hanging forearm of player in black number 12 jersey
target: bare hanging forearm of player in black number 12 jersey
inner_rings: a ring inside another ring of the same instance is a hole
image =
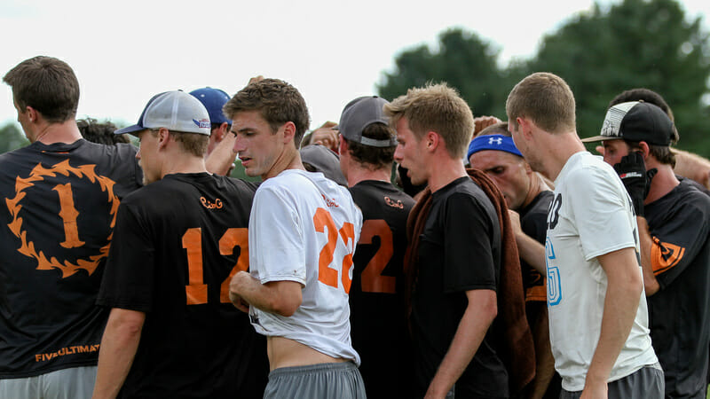
[[[132,317],[133,322],[126,317]],[[101,338],[94,399],[114,398],[118,395],[136,356],[145,317],[145,313],[132,310],[111,310]]]

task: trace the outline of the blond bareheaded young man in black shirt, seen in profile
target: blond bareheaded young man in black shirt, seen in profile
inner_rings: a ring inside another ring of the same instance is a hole
[[[384,110],[397,130],[394,159],[412,184],[432,192],[409,270],[414,395],[508,397],[508,372],[489,332],[498,311],[501,228],[463,166],[474,129],[470,108],[438,84],[407,90]]]

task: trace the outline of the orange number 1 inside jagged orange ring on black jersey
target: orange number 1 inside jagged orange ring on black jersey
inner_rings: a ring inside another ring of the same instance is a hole
[[[37,260],[37,270],[58,269],[61,270],[62,278],[67,278],[78,270],[86,270],[91,275],[91,273],[96,270],[97,266],[99,266],[99,261],[108,255],[111,239],[114,236],[113,231],[107,238],[108,243],[99,249],[98,254],[91,255],[88,259],[78,259],[76,263],[67,260],[60,262],[55,257],[47,259],[43,251],[38,251],[35,247],[35,243],[28,239],[27,231],[22,230],[22,218],[19,216],[20,209],[22,209],[21,201],[27,195],[25,190],[29,187],[33,187],[36,182],[43,181],[45,177],[58,175],[69,176],[69,174],[72,174],[79,178],[89,179],[92,184],[99,184],[101,191],[108,194],[108,203],[111,204],[110,215],[112,216],[110,227],[113,229],[116,223],[116,211],[118,210],[120,201],[114,195],[114,181],[105,176],[97,175],[94,171],[95,167],[96,165],[82,165],[75,168],[69,165],[69,160],[63,160],[51,168],[44,168],[41,164],[38,164],[32,169],[28,177],[23,178],[18,176],[15,180],[15,198],[5,200],[7,208],[12,215],[12,222],[8,224],[8,227],[10,231],[12,231],[12,234],[20,239],[21,245],[20,248],[18,248],[18,252],[25,256],[35,258]],[[60,243],[60,245],[65,248],[83,246],[83,241],[79,240],[79,232],[76,230],[76,218],[79,216],[79,211],[77,211],[74,206],[71,184],[57,184],[52,190],[59,194],[59,207],[61,209],[59,211],[59,217],[64,224],[65,240]]]

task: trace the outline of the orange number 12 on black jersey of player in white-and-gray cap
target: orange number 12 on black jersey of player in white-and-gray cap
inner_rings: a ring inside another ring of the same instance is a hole
[[[229,272],[229,276],[220,285],[219,301],[229,303],[229,282],[239,270],[248,270],[248,230],[246,228],[227,229],[219,239],[219,254],[230,255],[234,247],[239,246],[241,253],[237,264]],[[188,305],[207,303],[207,285],[202,278],[202,229],[187,229],[183,234],[183,248],[187,252],[188,285],[185,286],[185,296]]]

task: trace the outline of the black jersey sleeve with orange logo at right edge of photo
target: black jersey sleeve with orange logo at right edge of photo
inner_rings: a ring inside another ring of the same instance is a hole
[[[710,230],[707,208],[694,206],[690,199],[670,211],[672,217],[651,231],[651,267],[661,289],[695,260]]]

